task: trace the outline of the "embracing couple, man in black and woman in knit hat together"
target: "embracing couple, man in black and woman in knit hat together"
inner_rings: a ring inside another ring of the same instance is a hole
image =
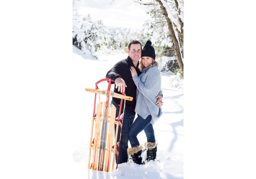
[[[156,158],[158,142],[155,140],[153,125],[162,115],[161,74],[157,68],[158,63],[155,61],[155,50],[149,40],[143,49],[139,41],[132,40],[128,45],[127,52],[129,56],[115,64],[106,75],[106,78],[111,78],[115,83],[114,92],[125,91],[127,96],[133,97],[133,101],[126,101],[119,157],[118,161],[116,157],[116,163],[127,162],[129,155],[133,162],[144,164],[145,162],[142,161],[144,147],[146,161]],[[117,108],[116,116],[118,116],[121,99],[112,98],[111,103]],[[138,117],[134,120],[135,113]],[[137,135],[143,130],[147,138],[144,147],[137,138]],[[119,134],[120,127],[117,141],[119,141]],[[128,140],[130,148],[128,148]]]

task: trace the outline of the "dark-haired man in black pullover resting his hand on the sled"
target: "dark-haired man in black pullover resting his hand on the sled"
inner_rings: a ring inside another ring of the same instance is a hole
[[[115,64],[110,71],[107,72],[106,78],[110,78],[115,83],[114,92],[122,94],[125,91],[127,96],[133,97],[133,101],[126,101],[126,106],[124,110],[123,116],[123,125],[122,125],[122,135],[121,141],[119,143],[119,157],[118,157],[118,164],[125,163],[128,160],[127,148],[128,148],[128,134],[130,125],[133,123],[135,118],[135,106],[136,106],[136,85],[132,79],[132,75],[130,73],[130,67],[133,66],[138,74],[141,74],[139,70],[139,59],[141,58],[142,53],[142,45],[137,40],[132,40],[128,45],[128,57],[124,60],[119,61]],[[158,94],[156,96],[158,99],[156,105],[160,106],[162,103],[162,94]],[[116,117],[118,117],[119,108],[121,99],[119,98],[112,98],[111,102],[116,107]],[[122,112],[124,107],[124,100],[122,104]],[[115,127],[116,129],[116,127]],[[120,127],[118,128],[118,136],[117,142],[119,141],[120,137]],[[116,131],[115,131],[116,132]],[[118,149],[117,149],[118,150]],[[116,156],[116,163],[117,163],[117,156]]]

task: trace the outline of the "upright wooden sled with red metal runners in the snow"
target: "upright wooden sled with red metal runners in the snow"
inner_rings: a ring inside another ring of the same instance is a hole
[[[102,81],[108,81],[107,90],[98,89],[97,85]],[[125,93],[118,94],[110,91],[111,82],[114,82],[114,81],[109,78],[105,78],[95,83],[96,89],[85,88],[85,91],[95,93],[94,112],[92,117],[91,137],[90,137],[90,144],[89,144],[90,147],[89,147],[88,169],[100,170],[100,171],[106,171],[106,172],[110,171],[111,156],[113,156],[112,171],[114,170],[115,154],[117,154],[117,157],[118,157],[118,151],[117,151],[117,148],[119,149],[119,142],[117,143],[118,126],[121,127],[121,132],[122,132],[122,121],[123,121],[122,116],[124,114],[124,108],[125,108],[125,101],[124,101],[123,114],[121,115],[122,101],[123,99],[129,100],[129,101],[133,100],[132,97],[125,96]],[[97,94],[106,95],[107,99],[106,99],[106,102],[98,103],[96,108]],[[116,107],[113,104],[109,103],[110,96],[121,99],[118,118],[116,118]],[[96,113],[95,113],[95,108],[96,108]],[[94,124],[95,124],[95,128],[94,128]],[[114,137],[114,124],[116,124],[115,137]],[[94,138],[93,138],[93,133],[94,133]],[[114,142],[113,142],[113,139],[114,139]],[[120,139],[121,139],[121,134],[120,134]],[[92,151],[91,151],[91,148],[93,148]],[[92,163],[91,163],[91,153],[93,153]]]

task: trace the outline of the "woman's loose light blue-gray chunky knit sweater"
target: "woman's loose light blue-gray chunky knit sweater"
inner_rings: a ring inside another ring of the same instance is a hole
[[[146,119],[148,115],[152,116],[151,124],[155,124],[156,120],[162,115],[162,108],[156,106],[158,94],[161,91],[161,74],[157,67],[146,67],[141,70],[140,76],[135,75],[133,81],[137,86],[136,107],[135,112]]]

